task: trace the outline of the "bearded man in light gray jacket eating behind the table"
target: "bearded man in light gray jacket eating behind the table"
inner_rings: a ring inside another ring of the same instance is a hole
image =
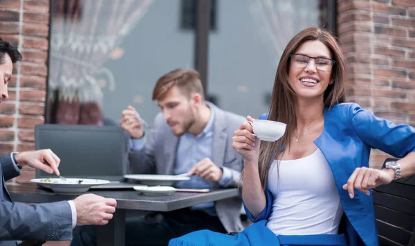
[[[162,113],[156,116],[148,143],[150,133],[136,110],[129,106],[122,111],[120,125],[132,138],[131,173],[188,173],[189,181],[176,184],[182,188],[238,187],[243,160],[232,148],[231,138],[245,118],[205,102],[199,73],[193,69],[177,69],[160,77],[153,100]],[[171,238],[199,229],[241,231],[240,209],[237,197],[130,219],[126,243],[167,245]]]

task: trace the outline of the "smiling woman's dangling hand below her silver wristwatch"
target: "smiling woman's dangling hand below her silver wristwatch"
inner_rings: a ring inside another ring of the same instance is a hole
[[[369,189],[378,187],[379,185],[387,185],[394,179],[395,171],[393,169],[378,170],[358,167],[353,171],[349,180],[347,180],[347,184],[343,185],[343,189],[349,191],[350,198],[354,197],[354,189],[362,191],[369,196]]]

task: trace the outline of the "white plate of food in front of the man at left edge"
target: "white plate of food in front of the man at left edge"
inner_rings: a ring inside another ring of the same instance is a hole
[[[56,193],[83,193],[88,191],[91,186],[108,184],[109,180],[66,178],[66,183],[64,183],[60,178],[35,178],[30,182],[34,182],[41,187],[50,188]]]

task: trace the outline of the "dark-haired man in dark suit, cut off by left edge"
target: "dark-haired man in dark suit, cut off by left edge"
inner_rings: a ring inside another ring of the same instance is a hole
[[[13,63],[21,55],[15,46],[0,39],[0,102],[8,98]],[[75,225],[105,225],[116,209],[116,200],[86,194],[75,200],[26,205],[12,202],[6,180],[19,176],[28,166],[59,175],[59,158],[50,149],[0,155],[0,245],[17,240],[71,240]]]

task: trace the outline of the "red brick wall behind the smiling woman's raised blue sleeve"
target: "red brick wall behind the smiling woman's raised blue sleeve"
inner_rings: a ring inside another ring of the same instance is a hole
[[[349,100],[415,126],[415,0],[338,0]],[[387,155],[373,151],[372,167]]]

